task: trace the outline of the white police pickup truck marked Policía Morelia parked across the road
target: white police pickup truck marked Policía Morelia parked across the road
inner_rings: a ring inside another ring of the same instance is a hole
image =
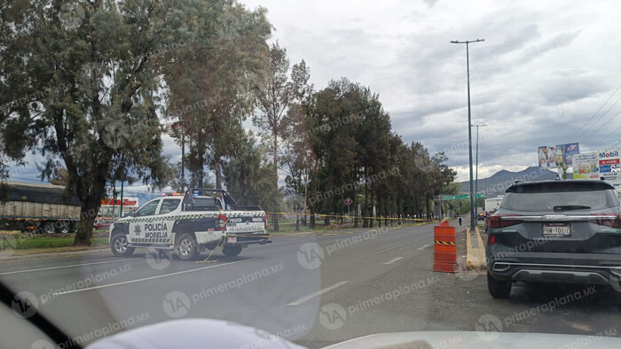
[[[214,189],[191,189],[148,201],[110,225],[109,242],[116,256],[151,247],[174,249],[181,260],[193,260],[216,246],[225,256],[237,256],[248,244],[271,243],[261,207],[238,206],[225,190]]]

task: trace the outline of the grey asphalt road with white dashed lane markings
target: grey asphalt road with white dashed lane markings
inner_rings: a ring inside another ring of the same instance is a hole
[[[497,330],[617,330],[617,291],[518,283],[511,299],[491,299],[484,274],[432,272],[432,244],[431,225],[351,229],[275,237],[239,257],[215,252],[216,261],[204,264],[145,251],[2,262],[0,280],[87,341],[102,336],[98,329],[197,317],[254,326],[309,347],[410,330],[477,330],[490,338]]]

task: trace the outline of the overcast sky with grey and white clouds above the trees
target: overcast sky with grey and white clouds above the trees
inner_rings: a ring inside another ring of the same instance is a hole
[[[585,152],[621,138],[621,90],[611,97],[621,84],[619,1],[241,3],[267,8],[272,41],[292,65],[306,60],[316,89],[342,76],[370,87],[404,141],[445,151],[460,181],[468,179],[466,47],[452,40],[485,39],[470,45],[473,123],[488,125],[479,178],[537,166],[539,145],[579,142]],[[177,162],[178,145],[168,136],[164,144]],[[40,174],[34,162],[13,177]]]

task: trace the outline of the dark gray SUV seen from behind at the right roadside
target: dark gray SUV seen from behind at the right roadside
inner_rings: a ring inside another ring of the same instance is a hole
[[[487,284],[507,298],[516,281],[610,284],[621,280],[621,213],[604,181],[511,185],[491,215]]]

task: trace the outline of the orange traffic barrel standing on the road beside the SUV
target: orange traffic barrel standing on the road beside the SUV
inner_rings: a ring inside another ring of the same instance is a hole
[[[455,273],[457,268],[457,239],[455,227],[442,221],[434,227],[434,271]]]

